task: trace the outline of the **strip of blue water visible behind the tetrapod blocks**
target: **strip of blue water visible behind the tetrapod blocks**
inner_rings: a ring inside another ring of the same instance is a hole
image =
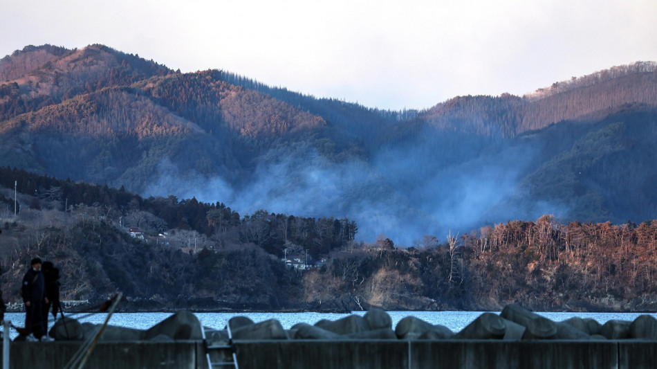
[[[450,328],[452,332],[459,332],[470,322],[474,321],[478,316],[483,314],[483,312],[387,312],[392,318],[392,326],[395,327],[402,318],[406,316],[415,316],[420,318],[423,321],[427,321],[432,324],[445,325],[445,327]],[[499,312],[494,312],[499,314]],[[121,327],[131,327],[140,330],[146,330],[160,321],[165,320],[172,313],[115,313],[111,316],[109,324],[118,325]],[[297,323],[308,323],[315,324],[317,321],[322,319],[328,319],[329,321],[335,321],[340,318],[344,318],[350,314],[333,314],[333,313],[315,313],[315,312],[303,312],[303,313],[254,313],[254,312],[244,312],[244,313],[195,313],[198,317],[198,320],[205,327],[211,327],[217,330],[221,330],[228,323],[228,319],[233,316],[248,316],[252,321],[260,322],[266,321],[268,319],[277,319],[281,322],[284,328],[288,329]],[[353,312],[352,314],[364,315],[365,312]],[[598,321],[600,324],[604,324],[607,321],[612,319],[621,320],[621,321],[633,321],[637,316],[640,316],[645,313],[573,313],[573,312],[539,312],[542,316],[552,320],[552,321],[564,321],[573,316],[579,316],[580,318],[593,318]],[[657,318],[657,314],[650,314]],[[71,314],[72,318],[76,318],[74,314]],[[50,316],[52,319],[52,316]],[[107,314],[95,314],[93,316],[86,316],[80,321],[89,322],[89,323],[104,323]],[[11,321],[14,325],[18,327],[24,326],[25,314],[24,313],[7,313],[5,314],[5,319]],[[52,322],[50,323],[52,325]],[[15,330],[11,330],[10,337],[12,339],[17,336]]]

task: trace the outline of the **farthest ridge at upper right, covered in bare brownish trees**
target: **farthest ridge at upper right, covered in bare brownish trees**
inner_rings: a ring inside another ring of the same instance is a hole
[[[420,117],[445,130],[512,137],[564,120],[599,120],[628,105],[657,105],[657,63],[614,66],[523,97],[459,96]]]

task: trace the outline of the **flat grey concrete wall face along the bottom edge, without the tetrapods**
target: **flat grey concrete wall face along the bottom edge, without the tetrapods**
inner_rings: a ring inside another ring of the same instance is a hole
[[[80,343],[14,342],[11,368],[64,368]],[[657,341],[235,341],[239,368],[655,368]],[[205,369],[203,341],[100,342],[85,368]],[[232,367],[226,367],[232,368]]]

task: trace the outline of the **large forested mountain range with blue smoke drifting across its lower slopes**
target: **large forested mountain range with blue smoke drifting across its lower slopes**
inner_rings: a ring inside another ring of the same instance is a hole
[[[657,64],[384,111],[103,45],[0,60],[0,163],[144,196],[349,217],[410,246],[508,219],[654,219]]]

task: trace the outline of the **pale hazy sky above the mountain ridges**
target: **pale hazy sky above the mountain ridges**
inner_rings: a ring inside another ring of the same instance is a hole
[[[0,0],[0,57],[105,44],[382,109],[657,60],[655,0]]]

